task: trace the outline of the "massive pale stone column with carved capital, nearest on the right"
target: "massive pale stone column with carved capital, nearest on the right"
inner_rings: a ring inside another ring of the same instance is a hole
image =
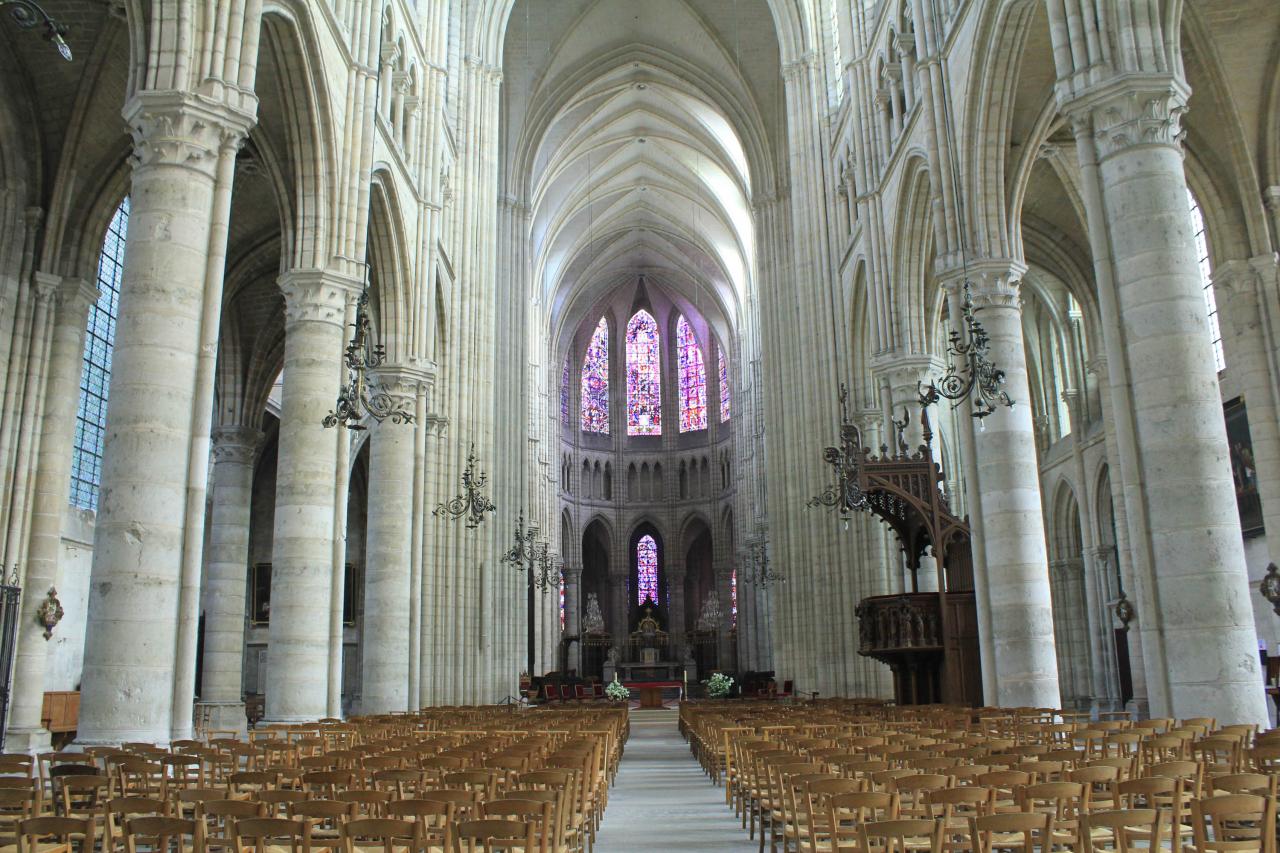
[[[1055,29],[1055,38],[1064,35]],[[1075,128],[1091,225],[1100,225],[1097,233],[1091,227],[1091,240],[1119,388],[1130,547],[1135,569],[1151,581],[1137,602],[1151,711],[1266,724],[1188,215],[1180,143],[1187,96],[1185,83],[1167,73],[1116,74],[1092,88],[1059,91]]]

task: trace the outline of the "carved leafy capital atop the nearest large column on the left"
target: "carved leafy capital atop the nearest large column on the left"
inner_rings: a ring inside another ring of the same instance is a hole
[[[170,165],[214,174],[218,154],[238,150],[255,117],[188,92],[143,91],[124,105],[133,168]]]

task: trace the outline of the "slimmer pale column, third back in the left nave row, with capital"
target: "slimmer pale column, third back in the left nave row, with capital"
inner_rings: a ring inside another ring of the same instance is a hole
[[[379,369],[372,382],[396,411],[413,411],[425,388],[402,368]],[[288,378],[285,378],[288,383]],[[369,548],[361,637],[364,713],[410,710],[410,542],[413,508],[413,425],[387,419],[369,448]],[[415,697],[416,699],[416,697]]]

